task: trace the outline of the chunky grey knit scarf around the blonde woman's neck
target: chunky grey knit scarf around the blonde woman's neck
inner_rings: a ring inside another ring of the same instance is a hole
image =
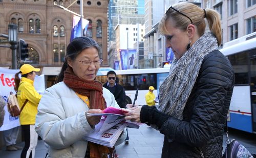
[[[216,37],[205,33],[170,67],[170,74],[159,88],[158,110],[182,120],[183,109],[197,80],[204,57],[217,50]]]

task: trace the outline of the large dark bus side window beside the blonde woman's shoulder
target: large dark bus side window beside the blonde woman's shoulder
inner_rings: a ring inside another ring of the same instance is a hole
[[[248,53],[238,53],[228,56],[234,71],[234,84],[249,84]]]

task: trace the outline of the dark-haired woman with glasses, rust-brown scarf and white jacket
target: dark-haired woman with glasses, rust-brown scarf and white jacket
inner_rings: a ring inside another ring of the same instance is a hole
[[[114,148],[83,139],[100,121],[100,116],[88,113],[119,107],[114,95],[96,79],[102,62],[99,53],[100,47],[92,38],[76,37],[69,43],[58,83],[46,89],[36,116],[35,130],[46,143],[47,157],[115,155]],[[116,145],[125,137],[124,131]]]

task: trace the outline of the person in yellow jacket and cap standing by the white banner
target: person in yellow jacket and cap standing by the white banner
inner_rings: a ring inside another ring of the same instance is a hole
[[[25,147],[20,157],[35,157],[35,147],[37,145],[38,134],[35,131],[35,116],[37,114],[37,106],[41,99],[41,95],[36,92],[34,87],[35,72],[39,72],[30,64],[24,64],[20,67],[20,71],[15,74],[14,89],[17,92],[17,99],[20,108],[24,106],[19,115],[19,122],[25,138]],[[19,78],[19,74],[22,78]]]

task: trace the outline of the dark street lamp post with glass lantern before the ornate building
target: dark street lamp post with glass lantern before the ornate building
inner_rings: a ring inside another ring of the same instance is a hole
[[[18,43],[18,26],[14,24],[8,25],[9,38],[8,41],[11,44],[12,50],[12,69],[17,69],[17,43]]]

